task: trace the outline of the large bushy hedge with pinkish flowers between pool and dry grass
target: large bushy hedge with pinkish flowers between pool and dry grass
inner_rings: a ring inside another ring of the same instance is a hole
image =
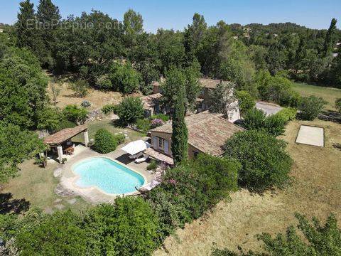
[[[161,186],[147,195],[161,222],[161,237],[199,218],[205,210],[237,190],[240,164],[199,154],[195,161],[169,169]]]

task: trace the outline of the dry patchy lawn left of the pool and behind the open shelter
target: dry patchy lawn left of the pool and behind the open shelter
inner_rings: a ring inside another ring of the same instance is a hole
[[[146,134],[135,132],[131,129],[123,129],[114,127],[109,119],[101,121],[93,121],[87,124],[89,127],[90,139],[94,138],[94,134],[98,129],[104,128],[109,132],[127,134],[126,142],[140,139]],[[128,139],[129,138],[129,139]],[[75,142],[84,142],[82,134],[74,138]],[[53,176],[53,171],[58,167],[57,163],[48,164],[47,168],[43,169],[34,164],[33,160],[25,161],[21,164],[21,171],[16,178],[12,178],[9,183],[4,185],[0,192],[0,206],[21,203],[30,207],[38,207],[45,210],[47,213],[52,213],[60,208],[73,210],[82,210],[90,206],[82,198],[73,196],[63,198],[55,194],[55,186],[58,185],[58,178]],[[0,209],[1,210],[1,209]]]

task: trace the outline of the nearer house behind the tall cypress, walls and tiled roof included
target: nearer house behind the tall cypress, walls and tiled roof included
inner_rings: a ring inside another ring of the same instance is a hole
[[[236,132],[244,131],[242,127],[232,124],[222,117],[222,114],[213,114],[208,111],[192,114],[185,117],[188,128],[188,156],[195,158],[199,153],[212,156],[222,156],[222,146],[229,137]],[[171,150],[172,124],[151,129],[152,147],[146,149],[149,156],[166,162],[173,163]]]

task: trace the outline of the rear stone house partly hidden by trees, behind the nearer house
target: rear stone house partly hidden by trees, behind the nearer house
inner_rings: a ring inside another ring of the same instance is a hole
[[[162,78],[163,79],[163,78]],[[202,112],[210,109],[212,105],[210,99],[210,92],[220,84],[220,82],[227,82],[217,79],[210,79],[210,78],[200,78],[199,79],[200,85],[202,86],[202,90],[200,95],[197,97],[197,112]],[[161,93],[161,85],[160,82],[153,82],[153,93]],[[232,106],[230,106],[232,110],[229,110],[229,122],[235,122],[240,119],[240,112],[238,107],[238,101],[236,100]]]

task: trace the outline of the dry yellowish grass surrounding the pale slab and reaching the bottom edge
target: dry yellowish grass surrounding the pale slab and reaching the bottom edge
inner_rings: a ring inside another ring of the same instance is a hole
[[[324,127],[325,148],[295,144],[300,124]],[[283,139],[295,161],[291,186],[263,196],[246,190],[232,194],[231,202],[220,202],[212,213],[167,238],[168,253],[158,250],[155,255],[210,255],[212,247],[237,250],[238,245],[260,250],[261,242],[254,236],[284,232],[296,224],[296,212],[321,220],[333,212],[341,221],[341,151],[332,147],[341,142],[340,128],[340,124],[320,120],[288,124]]]

